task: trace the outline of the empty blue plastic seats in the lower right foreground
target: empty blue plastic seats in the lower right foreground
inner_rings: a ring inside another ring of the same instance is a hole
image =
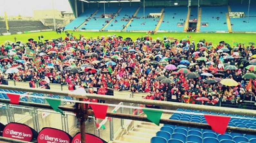
[[[245,117],[231,118],[228,125],[237,127],[243,125],[244,128],[256,129],[256,117],[189,109],[177,109],[177,111]],[[206,123],[203,115],[174,113],[170,119]],[[151,138],[151,143],[256,143],[256,135],[234,132],[218,134],[212,130],[164,124],[160,131],[156,132],[156,137]]]

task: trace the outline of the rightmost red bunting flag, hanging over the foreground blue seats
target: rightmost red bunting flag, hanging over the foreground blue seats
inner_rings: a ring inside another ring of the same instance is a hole
[[[227,130],[230,117],[219,115],[204,115],[206,122],[212,127],[213,131],[224,134]]]

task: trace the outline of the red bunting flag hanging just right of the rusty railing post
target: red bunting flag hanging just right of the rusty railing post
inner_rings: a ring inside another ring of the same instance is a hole
[[[107,105],[90,104],[96,118],[105,119],[108,111]]]

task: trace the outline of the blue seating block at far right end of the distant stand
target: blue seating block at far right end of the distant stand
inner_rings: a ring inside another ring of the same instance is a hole
[[[233,31],[249,32],[256,31],[256,4],[250,5],[249,23],[247,19],[248,4],[230,5],[232,12],[244,12],[245,18],[230,18]]]

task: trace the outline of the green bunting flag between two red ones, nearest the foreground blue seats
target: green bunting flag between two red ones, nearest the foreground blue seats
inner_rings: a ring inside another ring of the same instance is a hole
[[[142,110],[147,115],[147,119],[149,121],[159,126],[160,118],[162,116],[163,111],[148,110],[148,109],[142,109]]]

